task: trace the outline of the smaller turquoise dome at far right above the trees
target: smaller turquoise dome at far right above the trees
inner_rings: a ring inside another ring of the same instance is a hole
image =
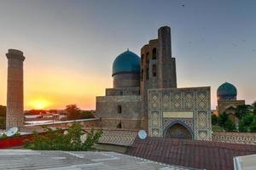
[[[229,82],[224,82],[218,87],[217,96],[218,97],[236,97],[237,90],[233,84]]]

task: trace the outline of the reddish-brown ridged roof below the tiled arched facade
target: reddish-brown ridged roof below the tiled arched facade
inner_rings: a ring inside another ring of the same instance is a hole
[[[128,154],[184,167],[233,170],[233,157],[256,154],[256,145],[148,137],[135,139]]]

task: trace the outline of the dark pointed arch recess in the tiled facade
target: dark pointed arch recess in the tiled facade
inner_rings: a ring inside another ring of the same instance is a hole
[[[192,133],[188,127],[176,122],[166,128],[165,137],[175,139],[192,139]]]

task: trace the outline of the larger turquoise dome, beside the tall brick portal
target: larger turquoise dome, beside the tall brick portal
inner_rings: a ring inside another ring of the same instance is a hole
[[[140,58],[137,54],[127,50],[114,59],[112,65],[112,76],[119,72],[136,72],[140,73]]]

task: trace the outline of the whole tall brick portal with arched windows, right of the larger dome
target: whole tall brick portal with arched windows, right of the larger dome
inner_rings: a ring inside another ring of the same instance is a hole
[[[148,89],[177,88],[176,61],[172,57],[171,28],[160,27],[158,38],[150,40],[141,48],[142,113],[148,120]],[[148,127],[143,122],[142,127]]]

